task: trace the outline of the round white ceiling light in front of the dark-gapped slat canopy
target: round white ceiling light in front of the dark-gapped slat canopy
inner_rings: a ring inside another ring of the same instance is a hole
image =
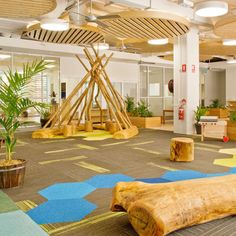
[[[40,27],[50,31],[65,31],[69,29],[69,22],[63,19],[44,19],[41,20]]]

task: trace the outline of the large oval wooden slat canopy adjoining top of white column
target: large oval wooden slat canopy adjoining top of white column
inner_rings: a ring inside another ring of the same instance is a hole
[[[103,22],[108,25],[101,29],[103,32],[126,39],[173,38],[189,30],[188,21],[184,18],[163,12],[120,12],[114,18],[108,15]]]

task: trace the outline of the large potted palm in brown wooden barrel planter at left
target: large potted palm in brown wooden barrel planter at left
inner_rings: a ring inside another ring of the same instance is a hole
[[[6,79],[0,77],[0,135],[5,141],[5,159],[0,160],[0,188],[21,186],[24,183],[26,160],[14,159],[13,152],[17,138],[15,133],[21,123],[19,117],[29,108],[39,111],[44,103],[34,102],[29,97],[31,78],[45,69],[42,60],[23,66],[23,73],[5,72]]]

